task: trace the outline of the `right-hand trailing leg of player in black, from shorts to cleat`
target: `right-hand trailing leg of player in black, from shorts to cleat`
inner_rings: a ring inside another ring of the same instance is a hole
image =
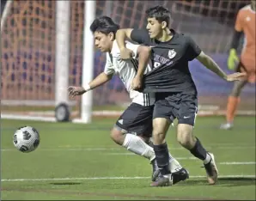
[[[184,148],[188,149],[192,155],[203,161],[208,182],[212,185],[216,183],[218,176],[214,155],[208,153],[198,137],[192,134],[197,113],[198,101],[196,98],[192,98],[192,100],[185,98],[181,101],[177,115],[177,140]]]

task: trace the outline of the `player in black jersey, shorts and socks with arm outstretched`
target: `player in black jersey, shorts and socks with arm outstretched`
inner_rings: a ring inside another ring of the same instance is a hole
[[[209,70],[232,82],[240,80],[243,73],[227,76],[220,67],[186,34],[178,34],[169,29],[170,12],[162,6],[146,11],[146,29],[119,29],[116,40],[121,50],[121,58],[131,58],[131,51],[125,48],[125,38],[139,44],[151,46],[152,68],[148,74],[137,74],[133,88],[143,92],[155,92],[153,113],[153,140],[156,161],[161,176],[151,186],[171,186],[173,175],[168,170],[168,145],[165,137],[169,125],[178,119],[177,140],[192,155],[204,162],[208,182],[217,180],[214,155],[207,152],[199,139],[192,135],[198,113],[198,92],[188,69],[188,62],[197,58]]]

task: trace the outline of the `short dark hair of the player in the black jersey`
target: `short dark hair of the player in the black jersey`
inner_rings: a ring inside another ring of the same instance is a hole
[[[147,15],[147,18],[155,17],[155,20],[159,21],[160,23],[162,21],[166,21],[167,27],[169,26],[169,23],[171,21],[170,11],[162,6],[155,6],[153,8],[147,9],[146,15]]]

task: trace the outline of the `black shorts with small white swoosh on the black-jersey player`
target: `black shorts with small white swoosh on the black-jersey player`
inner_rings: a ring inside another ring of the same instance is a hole
[[[198,113],[198,97],[192,94],[159,93],[156,94],[153,119],[165,118],[179,124],[194,125]]]

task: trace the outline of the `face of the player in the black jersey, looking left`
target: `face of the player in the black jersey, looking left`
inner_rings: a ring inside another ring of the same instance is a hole
[[[166,22],[159,22],[153,18],[148,18],[147,29],[149,30],[149,36],[151,39],[161,38],[162,32],[166,27]]]

